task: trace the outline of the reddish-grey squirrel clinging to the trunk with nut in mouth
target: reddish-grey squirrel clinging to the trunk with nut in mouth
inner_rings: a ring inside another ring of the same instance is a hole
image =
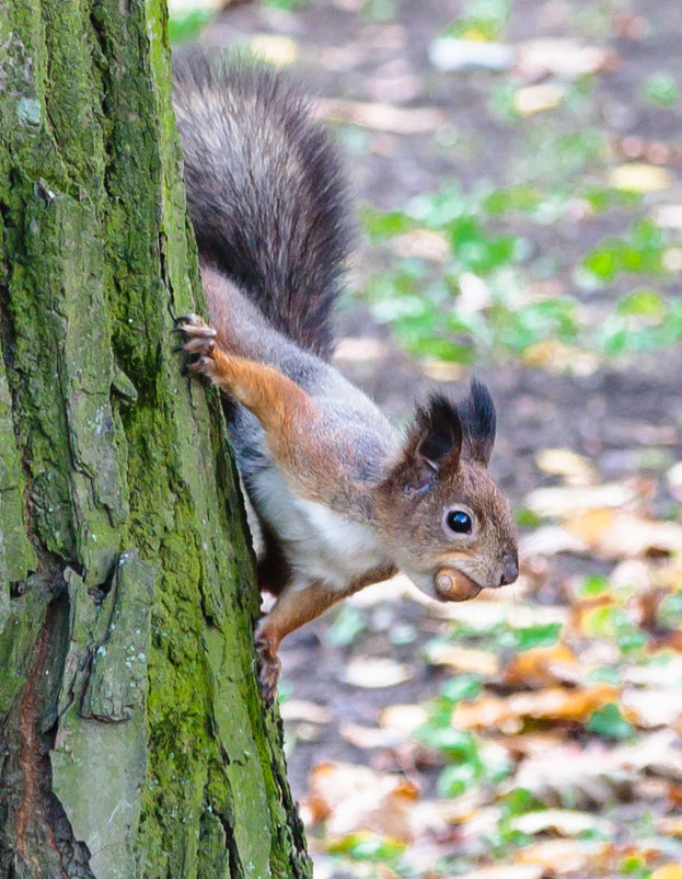
[[[271,701],[282,638],[398,570],[440,601],[519,573],[509,502],[487,472],[495,407],[472,380],[434,393],[405,438],[330,364],[352,226],[337,146],[288,78],[243,57],[174,59],[173,102],[210,323],[176,330],[223,391],[276,596],[255,632]]]

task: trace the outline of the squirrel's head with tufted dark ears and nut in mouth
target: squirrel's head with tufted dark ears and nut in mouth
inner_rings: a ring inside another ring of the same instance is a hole
[[[407,440],[382,480],[382,543],[428,595],[472,598],[519,575],[509,502],[487,472],[495,407],[481,383],[456,406],[434,395],[417,409]]]

